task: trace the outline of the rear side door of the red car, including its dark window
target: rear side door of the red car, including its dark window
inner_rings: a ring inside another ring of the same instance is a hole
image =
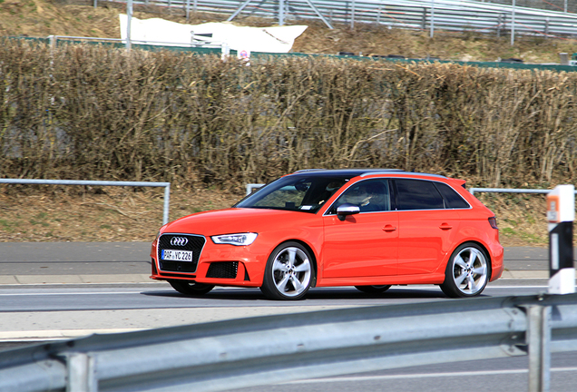
[[[445,209],[434,181],[397,179],[394,183],[399,214],[398,274],[435,272],[453,250],[459,212]]]

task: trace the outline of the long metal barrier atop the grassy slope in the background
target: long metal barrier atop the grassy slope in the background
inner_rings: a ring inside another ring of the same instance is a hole
[[[116,3],[126,3],[115,1]],[[181,8],[183,13],[208,12],[284,20],[322,19],[333,23],[387,25],[395,28],[490,34],[576,34],[577,15],[560,11],[484,3],[472,0],[135,0],[135,5]]]

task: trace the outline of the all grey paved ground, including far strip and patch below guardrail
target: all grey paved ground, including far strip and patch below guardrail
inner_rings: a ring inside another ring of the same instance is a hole
[[[302,301],[269,301],[259,289],[217,288],[200,299],[148,279],[150,244],[0,243],[0,350],[75,338],[323,309],[449,301],[435,286],[394,287],[380,296],[357,289],[312,289]],[[547,250],[505,250],[504,279],[486,296],[544,292]],[[86,284],[91,283],[91,284]],[[577,353],[553,355],[552,392],[577,390]],[[527,358],[446,363],[299,380],[239,391],[523,391]]]

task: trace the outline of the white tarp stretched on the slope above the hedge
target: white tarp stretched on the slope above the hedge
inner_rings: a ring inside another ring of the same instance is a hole
[[[126,39],[128,17],[120,15],[121,36]],[[137,44],[191,44],[192,34],[212,34],[207,38],[215,44],[228,44],[232,50],[250,52],[288,53],[298,35],[307,29],[306,25],[247,27],[230,23],[206,23],[202,25],[182,25],[160,18],[140,20],[132,17],[131,41]]]

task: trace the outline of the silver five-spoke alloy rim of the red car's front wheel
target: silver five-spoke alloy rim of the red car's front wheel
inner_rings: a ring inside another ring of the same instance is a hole
[[[275,287],[286,297],[297,297],[308,289],[312,267],[307,254],[296,247],[279,251],[272,263]]]

